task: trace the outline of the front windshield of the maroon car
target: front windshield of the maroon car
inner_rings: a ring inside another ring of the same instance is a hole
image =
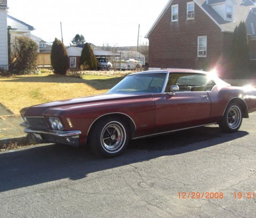
[[[166,73],[133,74],[127,76],[108,93],[161,93]]]

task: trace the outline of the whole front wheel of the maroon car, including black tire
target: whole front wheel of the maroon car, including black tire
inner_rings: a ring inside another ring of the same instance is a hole
[[[89,137],[92,152],[103,157],[120,155],[128,145],[127,130],[127,125],[121,119],[105,118],[97,121]]]

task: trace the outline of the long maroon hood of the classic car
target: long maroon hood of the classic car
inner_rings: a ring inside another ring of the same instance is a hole
[[[42,116],[44,112],[48,109],[62,110],[62,108],[67,108],[73,105],[95,105],[111,102],[120,102],[122,100],[136,100],[151,97],[152,94],[102,94],[38,104],[31,107],[23,108],[20,112],[24,116]]]

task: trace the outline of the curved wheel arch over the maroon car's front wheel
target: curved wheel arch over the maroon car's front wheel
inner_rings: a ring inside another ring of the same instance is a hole
[[[93,129],[94,125],[98,122],[101,122],[101,120],[105,118],[119,118],[123,120],[123,122],[127,124],[128,130],[130,131],[130,138],[133,138],[135,129],[136,129],[134,121],[128,115],[120,114],[120,113],[106,114],[106,115],[100,116],[100,118],[97,118],[93,122],[93,124],[90,126],[87,137],[90,136],[90,132]]]

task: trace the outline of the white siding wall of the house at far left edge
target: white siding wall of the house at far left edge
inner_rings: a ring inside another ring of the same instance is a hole
[[[7,0],[0,0],[0,70],[8,70]]]

